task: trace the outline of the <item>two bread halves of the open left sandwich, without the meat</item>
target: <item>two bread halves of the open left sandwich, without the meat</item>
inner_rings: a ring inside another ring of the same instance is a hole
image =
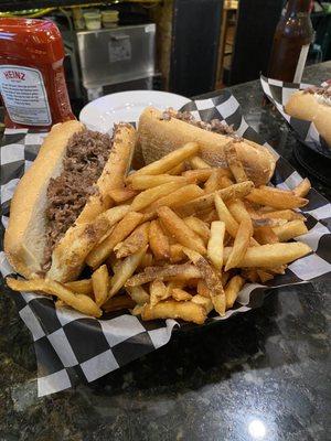
[[[11,201],[4,251],[15,271],[28,279],[40,277],[43,272],[50,181],[62,172],[68,140],[83,129],[84,126],[78,121],[54,126],[45,138],[38,158],[20,180]],[[96,191],[53,249],[47,277],[65,282],[79,275],[86,255],[107,229],[107,223],[102,216],[98,218],[98,215],[111,206],[113,201],[107,196],[107,192],[120,185],[121,175],[127,172],[127,159],[131,158],[135,143],[136,130],[129,125],[119,125],[114,135],[109,158],[95,183]]]

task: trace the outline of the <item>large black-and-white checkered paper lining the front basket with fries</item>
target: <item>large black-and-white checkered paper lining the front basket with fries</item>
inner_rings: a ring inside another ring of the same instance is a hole
[[[233,125],[239,136],[265,144],[242,116],[239,104],[224,90],[212,99],[191,101],[182,110],[190,110],[195,118],[210,121],[213,118]],[[137,121],[136,121],[137,122]],[[2,250],[3,227],[8,225],[10,200],[20,178],[36,157],[45,133],[28,130],[7,129],[1,147],[1,208],[2,234],[0,235],[0,271],[2,290],[17,301],[21,319],[29,327],[35,346],[38,362],[39,396],[53,394],[76,385],[93,381],[125,364],[166,345],[177,330],[195,325],[174,320],[142,322],[129,312],[117,312],[94,319],[70,309],[55,309],[50,297],[31,292],[13,293],[4,287],[3,278],[13,275]],[[292,189],[301,176],[291,165],[279,158],[274,175],[274,185]],[[313,250],[291,265],[282,276],[277,276],[267,284],[247,283],[241,291],[233,309],[224,318],[207,319],[205,325],[214,321],[227,320],[233,314],[247,312],[264,301],[270,289],[296,283],[305,283],[330,275],[331,270],[331,209],[330,204],[314,190],[309,193],[309,204],[302,209],[307,216],[309,233],[300,237]]]

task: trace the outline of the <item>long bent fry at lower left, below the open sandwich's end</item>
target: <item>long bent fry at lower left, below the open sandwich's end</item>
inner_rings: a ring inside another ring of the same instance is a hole
[[[65,304],[86,315],[99,318],[103,314],[99,306],[88,295],[76,294],[51,279],[17,280],[8,277],[6,282],[14,291],[38,291],[56,295]]]

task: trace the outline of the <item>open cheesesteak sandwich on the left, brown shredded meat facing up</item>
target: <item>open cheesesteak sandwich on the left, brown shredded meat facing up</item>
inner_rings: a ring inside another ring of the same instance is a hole
[[[20,180],[10,206],[4,251],[28,279],[74,280],[109,225],[111,189],[124,185],[136,144],[127,123],[113,138],[78,121],[56,125]]]

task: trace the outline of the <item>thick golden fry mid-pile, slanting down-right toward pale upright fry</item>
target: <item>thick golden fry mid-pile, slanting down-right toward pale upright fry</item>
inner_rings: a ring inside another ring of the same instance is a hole
[[[201,237],[199,237],[171,208],[166,206],[158,209],[158,215],[162,220],[162,225],[173,236],[179,244],[191,247],[201,254],[205,254],[206,249]]]

